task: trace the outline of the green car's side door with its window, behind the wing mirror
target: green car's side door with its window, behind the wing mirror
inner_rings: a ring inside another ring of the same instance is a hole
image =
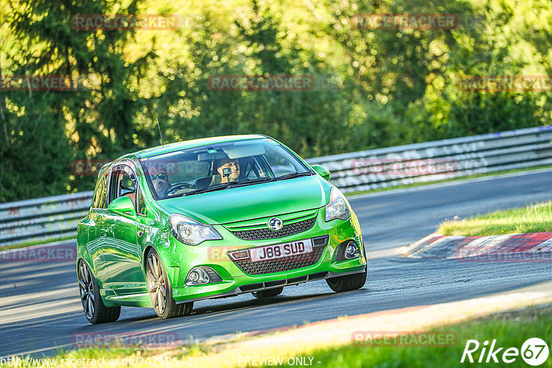
[[[102,247],[103,260],[109,273],[106,286],[119,295],[146,292],[146,281],[141,268],[141,247],[137,243],[137,231],[143,231],[143,226],[137,223],[138,187],[135,170],[130,166],[116,165],[112,168],[109,201],[128,196],[135,203],[136,211],[136,214],[128,216],[108,211],[103,216],[102,227],[107,232]]]

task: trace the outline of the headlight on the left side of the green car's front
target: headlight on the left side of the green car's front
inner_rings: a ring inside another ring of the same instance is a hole
[[[179,214],[171,214],[169,223],[172,235],[187,245],[198,245],[204,241],[216,241],[222,238],[213,226]]]

